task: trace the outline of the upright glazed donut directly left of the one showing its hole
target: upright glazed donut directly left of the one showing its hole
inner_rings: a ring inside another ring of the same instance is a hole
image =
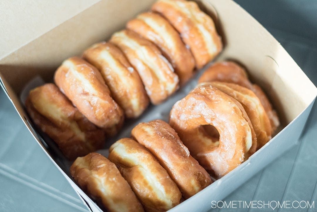
[[[186,199],[212,182],[168,123],[162,120],[139,123],[131,135],[159,160]]]

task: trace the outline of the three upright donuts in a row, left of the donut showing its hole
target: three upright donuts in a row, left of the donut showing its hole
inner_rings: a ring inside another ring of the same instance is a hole
[[[211,184],[174,129],[162,120],[139,123],[109,156],[78,157],[70,173],[107,211],[167,211]]]

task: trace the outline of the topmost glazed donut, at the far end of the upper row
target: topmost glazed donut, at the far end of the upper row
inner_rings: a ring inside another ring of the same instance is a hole
[[[152,10],[162,14],[190,47],[196,67],[202,68],[222,50],[221,38],[213,20],[197,3],[185,0],[159,0]]]

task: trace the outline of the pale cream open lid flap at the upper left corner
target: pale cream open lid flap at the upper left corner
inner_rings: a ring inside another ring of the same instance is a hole
[[[1,1],[0,58],[99,1]]]

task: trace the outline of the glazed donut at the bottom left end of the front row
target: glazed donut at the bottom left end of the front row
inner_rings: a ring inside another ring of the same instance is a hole
[[[106,157],[94,152],[78,157],[70,167],[70,174],[107,211],[144,212],[128,182]]]

